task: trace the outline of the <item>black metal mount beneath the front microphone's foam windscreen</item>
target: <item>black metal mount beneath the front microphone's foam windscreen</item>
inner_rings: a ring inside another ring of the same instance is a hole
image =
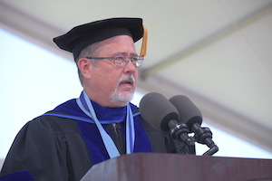
[[[176,140],[179,140],[185,146],[188,146],[189,151],[186,151],[185,153],[187,155],[189,155],[189,154],[196,155],[196,151],[195,151],[195,141],[196,140],[194,137],[189,137],[188,126],[184,123],[178,122],[175,119],[171,119],[168,122],[168,126],[170,128],[171,137]]]

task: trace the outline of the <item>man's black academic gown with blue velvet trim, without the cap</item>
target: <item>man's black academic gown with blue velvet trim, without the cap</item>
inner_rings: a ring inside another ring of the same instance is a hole
[[[122,119],[119,125],[124,135],[126,112],[123,108],[92,104],[99,119]],[[175,152],[168,133],[153,129],[137,114],[137,107],[130,105],[136,115],[133,152]],[[36,180],[80,180],[92,165],[109,159],[98,129],[88,120],[76,100],[68,100],[27,122],[15,138],[1,176],[21,172],[29,173]],[[103,128],[108,131],[107,125]]]

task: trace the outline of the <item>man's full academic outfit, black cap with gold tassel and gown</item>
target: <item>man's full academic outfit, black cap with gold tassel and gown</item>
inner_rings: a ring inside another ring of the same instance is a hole
[[[147,30],[143,27],[141,18],[111,18],[79,25],[68,33],[53,38],[53,42],[61,49],[72,52],[76,60],[88,45],[122,34],[131,36],[134,42],[143,37],[140,55],[146,54]],[[110,120],[107,124],[102,124],[102,127],[112,134],[114,143],[123,154],[123,146],[128,145],[124,143],[130,140],[126,137],[120,138],[120,135],[128,132],[125,126],[127,121],[124,121],[127,110],[104,108],[92,103],[99,120]],[[136,106],[131,103],[129,106],[130,112],[133,112],[132,128],[135,129],[134,148],[131,153],[175,152],[169,134],[152,128],[137,113]],[[131,118],[132,113],[130,115]],[[92,165],[110,158],[96,127],[97,123],[94,124],[91,120],[76,100],[68,100],[54,110],[27,122],[19,131],[5,158],[0,180],[80,180]],[[116,120],[118,121],[115,122]],[[118,123],[117,132],[113,129],[112,133],[108,129],[114,123]],[[7,174],[11,175],[4,176]]]

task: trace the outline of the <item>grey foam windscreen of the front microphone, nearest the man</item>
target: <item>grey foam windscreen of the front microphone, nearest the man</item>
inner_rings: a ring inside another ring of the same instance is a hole
[[[146,94],[140,102],[139,110],[154,128],[169,130],[171,119],[179,120],[178,110],[164,96],[157,92]]]

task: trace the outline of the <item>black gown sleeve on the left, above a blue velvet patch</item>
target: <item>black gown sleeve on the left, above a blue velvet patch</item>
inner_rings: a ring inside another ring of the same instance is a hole
[[[29,121],[17,134],[0,176],[29,172],[36,181],[69,180],[65,142],[51,121]]]

